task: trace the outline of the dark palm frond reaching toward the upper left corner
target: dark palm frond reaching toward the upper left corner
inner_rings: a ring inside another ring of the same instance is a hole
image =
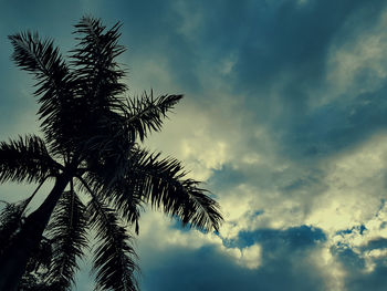
[[[74,111],[74,79],[52,40],[41,40],[38,33],[9,35],[13,45],[12,59],[36,80],[41,107],[38,112],[42,129],[56,152],[71,143]],[[72,102],[70,102],[72,101]]]

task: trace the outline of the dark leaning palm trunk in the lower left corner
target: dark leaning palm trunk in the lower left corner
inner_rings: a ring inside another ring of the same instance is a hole
[[[54,207],[69,184],[70,175],[62,174],[55,180],[43,204],[27,217],[13,243],[0,258],[0,291],[15,291],[32,252],[39,247],[43,231]]]

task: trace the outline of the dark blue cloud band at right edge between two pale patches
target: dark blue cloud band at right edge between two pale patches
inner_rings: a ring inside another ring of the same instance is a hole
[[[302,122],[286,127],[290,131],[283,139],[290,146],[285,149],[297,157],[322,157],[366,141],[375,132],[387,128],[386,95],[387,85],[355,96],[352,103],[338,100],[320,107]]]

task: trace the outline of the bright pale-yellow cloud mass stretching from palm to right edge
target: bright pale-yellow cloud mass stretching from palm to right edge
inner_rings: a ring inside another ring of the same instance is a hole
[[[317,174],[313,174],[308,164],[279,156],[276,145],[264,128],[254,129],[257,139],[262,141],[254,148],[242,142],[251,136],[251,128],[241,129],[243,117],[234,115],[232,121],[237,122],[230,122],[229,111],[217,111],[216,104],[202,108],[198,103],[187,103],[175,111],[172,122],[167,123],[161,135],[154,135],[148,145],[184,160],[197,179],[207,180],[215,169],[222,169],[224,165],[247,177],[243,183],[217,193],[226,219],[221,238],[236,239],[241,230],[259,228],[286,229],[301,225],[321,228],[327,235],[327,242],[313,254],[315,260],[311,263],[320,266],[327,278],[326,290],[344,291],[348,274],[330,248],[341,242],[356,250],[387,235],[387,230],[380,228],[386,214],[379,209],[385,187],[387,135],[379,133],[357,147],[316,163]],[[284,190],[297,181],[299,188]],[[228,248],[219,237],[195,230],[181,232],[170,229],[169,222],[160,227],[159,221],[145,224],[151,229],[163,229],[158,235],[153,233],[153,238],[142,230],[142,237],[157,241],[157,248],[216,246],[245,268],[259,268],[261,263],[258,245],[252,249]],[[360,224],[367,228],[363,235],[356,229],[347,235],[336,233]],[[369,269],[375,256],[367,256]]]

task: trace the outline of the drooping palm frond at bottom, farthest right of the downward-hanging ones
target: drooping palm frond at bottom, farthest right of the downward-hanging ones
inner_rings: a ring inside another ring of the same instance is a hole
[[[100,201],[95,195],[87,209],[98,241],[93,260],[96,290],[137,291],[137,256],[132,246],[132,237],[119,225],[114,209]]]

